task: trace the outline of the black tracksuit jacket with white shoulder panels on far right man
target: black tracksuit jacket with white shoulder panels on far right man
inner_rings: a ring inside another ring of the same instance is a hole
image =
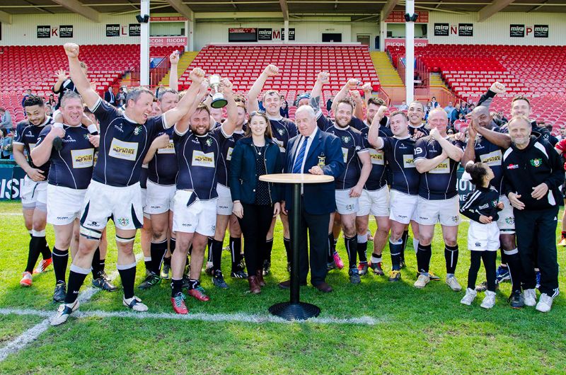
[[[525,209],[548,209],[556,207],[560,200],[560,185],[564,182],[564,166],[553,146],[542,137],[533,137],[525,149],[512,144],[503,154],[503,176],[505,195],[515,192]],[[545,183],[548,192],[536,200],[531,196],[533,188]]]

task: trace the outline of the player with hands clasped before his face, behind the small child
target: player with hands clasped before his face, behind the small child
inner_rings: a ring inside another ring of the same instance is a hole
[[[503,154],[509,148],[511,139],[507,142],[499,142],[498,144],[490,142],[486,137],[482,137],[476,129],[481,127],[492,132],[501,132],[495,127],[489,108],[478,105],[474,108],[470,115],[471,126],[468,127],[468,144],[464,149],[461,163],[463,166],[469,161],[482,161],[490,166],[493,171],[494,178],[491,184],[499,192],[499,202],[504,207],[499,212],[497,226],[499,227],[499,243],[501,246],[501,265],[497,268],[495,280],[497,283],[506,279],[512,280],[512,293],[509,297],[511,306],[519,308],[524,305],[523,296],[521,294],[521,261],[519,260],[519,252],[515,243],[515,218],[513,207],[507,197],[504,195],[504,180],[502,161]],[[486,284],[487,287],[487,284]],[[484,285],[480,284],[478,289],[483,290]]]

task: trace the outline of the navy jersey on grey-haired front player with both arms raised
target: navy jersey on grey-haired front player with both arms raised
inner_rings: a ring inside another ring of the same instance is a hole
[[[118,187],[139,183],[141,163],[149,146],[158,132],[166,129],[165,116],[150,117],[138,124],[100,98],[91,111],[100,123],[93,180]]]

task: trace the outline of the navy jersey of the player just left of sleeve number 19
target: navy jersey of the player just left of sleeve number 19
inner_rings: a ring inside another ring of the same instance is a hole
[[[381,149],[389,168],[393,172],[391,190],[408,195],[417,195],[419,192],[420,173],[417,172],[413,162],[415,139],[411,137],[384,137],[382,139],[383,147]]]

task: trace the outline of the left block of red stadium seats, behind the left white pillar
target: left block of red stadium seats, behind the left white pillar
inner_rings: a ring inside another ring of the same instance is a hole
[[[183,47],[151,47],[151,57],[164,57]],[[23,92],[48,97],[57,81],[56,72],[67,69],[67,56],[59,45],[1,47],[0,105],[23,120]],[[88,66],[88,78],[100,93],[115,85],[127,71],[139,68],[139,45],[83,45],[81,59]]]

